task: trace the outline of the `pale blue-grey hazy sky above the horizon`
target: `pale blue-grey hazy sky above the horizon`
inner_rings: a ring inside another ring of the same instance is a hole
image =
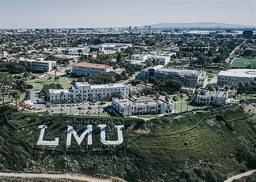
[[[1,29],[204,22],[256,26],[256,0],[0,0],[0,16]]]

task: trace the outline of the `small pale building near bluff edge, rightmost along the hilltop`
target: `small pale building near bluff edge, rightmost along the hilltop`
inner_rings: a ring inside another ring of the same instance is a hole
[[[222,90],[210,92],[206,91],[204,94],[198,94],[196,99],[196,103],[202,104],[203,106],[215,105],[215,106],[223,106],[228,103],[228,93]]]

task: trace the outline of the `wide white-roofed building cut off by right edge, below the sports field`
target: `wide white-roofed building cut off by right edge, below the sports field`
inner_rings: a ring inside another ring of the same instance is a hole
[[[256,80],[256,69],[228,69],[227,71],[220,71],[218,74],[218,85],[235,85],[239,82],[250,82]],[[252,86],[248,86],[251,89]]]

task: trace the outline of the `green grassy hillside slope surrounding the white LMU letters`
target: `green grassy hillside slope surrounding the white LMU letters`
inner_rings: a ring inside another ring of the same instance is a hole
[[[256,120],[245,113],[245,107],[249,106],[145,122],[134,118],[52,118],[46,113],[17,113],[15,107],[4,106],[0,108],[0,171],[73,172],[132,181],[224,180],[231,173],[255,167]],[[213,117],[187,132],[173,133],[189,129],[207,116]],[[39,124],[48,125],[44,139],[59,137],[59,146],[36,145]],[[81,132],[87,124],[93,125],[93,145],[87,145],[85,138],[78,146],[72,137],[71,148],[66,149],[67,125]],[[124,143],[117,147],[101,144],[98,124],[107,124],[107,139],[117,139],[114,125],[124,124]]]

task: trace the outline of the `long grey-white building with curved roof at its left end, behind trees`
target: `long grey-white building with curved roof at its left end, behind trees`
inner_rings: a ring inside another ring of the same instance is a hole
[[[205,87],[207,85],[207,74],[205,71],[163,68],[161,65],[143,69],[138,73],[136,79],[146,80],[150,76],[154,76],[157,79],[163,78],[164,76],[173,76],[187,87]]]

